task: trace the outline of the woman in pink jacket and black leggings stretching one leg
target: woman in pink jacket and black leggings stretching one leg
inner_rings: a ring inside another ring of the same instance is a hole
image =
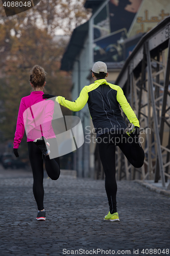
[[[43,206],[43,159],[47,175],[52,180],[60,176],[59,157],[53,156],[49,146],[57,148],[56,136],[52,127],[54,101],[45,101],[42,98],[45,86],[45,71],[36,65],[30,72],[30,83],[33,91],[29,96],[23,97],[20,102],[15,138],[14,154],[18,155],[18,147],[26,130],[29,159],[33,171],[33,193],[38,207],[37,220],[45,220]],[[50,154],[50,155],[49,155]],[[43,156],[43,157],[42,157]]]

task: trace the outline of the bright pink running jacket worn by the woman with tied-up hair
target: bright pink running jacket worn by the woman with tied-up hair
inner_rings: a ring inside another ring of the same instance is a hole
[[[18,148],[26,130],[27,141],[44,136],[46,139],[56,138],[52,119],[54,113],[54,101],[42,98],[42,91],[34,91],[20,101],[14,148]]]

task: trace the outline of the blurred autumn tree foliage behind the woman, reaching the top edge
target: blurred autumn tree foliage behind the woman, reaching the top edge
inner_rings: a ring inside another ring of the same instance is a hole
[[[83,1],[41,0],[35,8],[8,18],[0,10],[0,130],[5,139],[14,138],[19,102],[30,93],[29,71],[34,65],[47,72],[47,93],[70,98],[70,74],[60,71],[66,43],[53,38],[57,28],[71,34],[85,22],[89,11],[82,6]]]

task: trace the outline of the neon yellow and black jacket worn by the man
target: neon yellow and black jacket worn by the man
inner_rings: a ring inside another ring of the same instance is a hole
[[[88,103],[96,137],[105,133],[106,130],[126,129],[127,125],[119,109],[119,104],[130,123],[139,127],[139,121],[123,90],[119,86],[107,82],[106,79],[95,80],[94,83],[85,86],[75,101],[66,100],[61,96],[58,96],[56,101],[71,111],[79,111]]]

